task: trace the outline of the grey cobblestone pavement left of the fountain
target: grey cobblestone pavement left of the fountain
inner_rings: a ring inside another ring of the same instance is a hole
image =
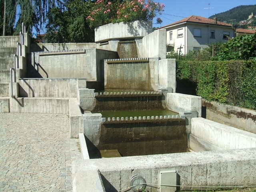
[[[79,150],[65,114],[0,113],[0,191],[72,191]]]

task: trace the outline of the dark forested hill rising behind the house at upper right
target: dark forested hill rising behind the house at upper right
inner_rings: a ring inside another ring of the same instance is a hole
[[[247,20],[250,14],[256,14],[256,5],[240,5],[238,7],[232,8],[228,11],[215,14],[210,16],[210,19],[214,17],[218,18],[219,21],[227,21],[236,19],[236,22],[240,22],[242,20]]]

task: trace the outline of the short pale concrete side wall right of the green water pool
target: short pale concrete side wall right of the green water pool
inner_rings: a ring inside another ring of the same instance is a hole
[[[168,93],[166,106],[174,112],[196,111],[195,117],[201,117],[202,98],[199,96],[186,95],[180,93]]]

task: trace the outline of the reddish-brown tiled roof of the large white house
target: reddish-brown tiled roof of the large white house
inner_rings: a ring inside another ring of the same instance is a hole
[[[184,23],[184,22],[194,22],[194,23],[202,23],[202,24],[213,24],[213,25],[221,25],[221,26],[229,26],[229,27],[232,26],[232,24],[228,24],[228,23],[225,23],[225,22],[217,21],[217,23],[215,23],[214,21],[215,20],[213,20],[213,19],[208,19],[208,18],[205,18],[205,17],[192,15],[192,16],[189,16],[189,17],[184,18],[182,20],[179,20],[179,21],[176,21],[174,23],[171,23],[169,25],[162,26],[162,27],[160,27],[158,29],[166,28],[166,27],[173,26],[175,24]]]

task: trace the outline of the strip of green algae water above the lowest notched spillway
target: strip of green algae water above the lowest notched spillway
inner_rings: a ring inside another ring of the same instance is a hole
[[[156,109],[156,110],[121,110],[121,111],[92,111],[92,113],[101,113],[102,118],[108,117],[143,117],[143,116],[168,116],[178,115],[178,113],[167,110],[167,109]]]

